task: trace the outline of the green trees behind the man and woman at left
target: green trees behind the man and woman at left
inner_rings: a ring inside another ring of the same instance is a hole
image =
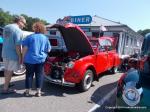
[[[4,27],[5,25],[12,23],[15,16],[16,15],[11,15],[8,11],[5,12],[5,11],[3,11],[3,9],[0,8],[0,26]],[[24,16],[26,19],[27,24],[26,24],[26,27],[24,28],[24,30],[27,30],[27,31],[32,31],[32,25],[33,25],[33,23],[35,23],[37,21],[41,21],[45,25],[49,24],[47,21],[42,20],[40,18],[29,17],[25,14],[21,14],[21,16]]]

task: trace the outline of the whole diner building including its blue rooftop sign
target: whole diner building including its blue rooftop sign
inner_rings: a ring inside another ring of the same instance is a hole
[[[121,58],[126,55],[141,52],[144,37],[120,22],[108,20],[96,15],[92,17],[85,15],[67,16],[64,19],[58,19],[56,23],[66,24],[68,22],[80,26],[88,37],[100,37],[100,33],[103,31],[104,36],[117,38],[116,50]],[[48,35],[61,36],[57,32],[57,29],[49,31]]]

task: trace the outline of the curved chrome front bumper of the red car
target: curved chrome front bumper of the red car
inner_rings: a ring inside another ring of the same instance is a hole
[[[69,87],[75,87],[75,83],[71,83],[71,82],[66,82],[64,81],[64,79],[59,80],[59,79],[53,79],[50,76],[46,76],[44,75],[45,79],[48,80],[50,83],[54,83],[54,84],[58,84],[58,85],[62,85],[62,86],[69,86]]]

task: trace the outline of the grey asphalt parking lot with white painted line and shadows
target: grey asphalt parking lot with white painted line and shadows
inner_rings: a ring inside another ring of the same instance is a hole
[[[87,92],[79,92],[78,88],[62,87],[44,83],[43,95],[35,97],[33,89],[31,97],[24,97],[24,76],[13,77],[13,88],[16,94],[1,95],[0,109],[2,112],[112,112],[109,106],[115,104],[115,88],[120,73],[106,74],[94,81]],[[0,77],[2,88],[3,77]],[[111,94],[109,94],[111,93]]]

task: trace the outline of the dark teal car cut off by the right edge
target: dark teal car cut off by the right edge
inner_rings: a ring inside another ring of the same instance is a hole
[[[150,112],[150,34],[141,51],[140,58],[129,59],[131,68],[118,81],[116,111]]]

